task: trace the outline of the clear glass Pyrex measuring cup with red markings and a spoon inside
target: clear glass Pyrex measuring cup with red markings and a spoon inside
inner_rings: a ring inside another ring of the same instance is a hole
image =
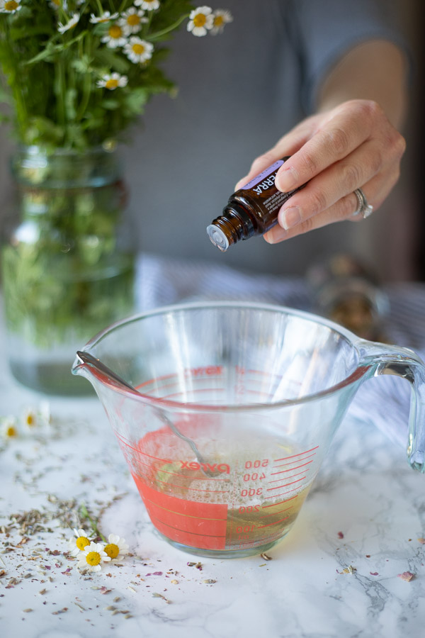
[[[84,351],[137,388],[74,362],[103,403],[154,527],[186,552],[241,557],[279,542],[372,376],[411,382],[407,457],[425,471],[421,359],[310,313],[170,306],[113,324]]]

